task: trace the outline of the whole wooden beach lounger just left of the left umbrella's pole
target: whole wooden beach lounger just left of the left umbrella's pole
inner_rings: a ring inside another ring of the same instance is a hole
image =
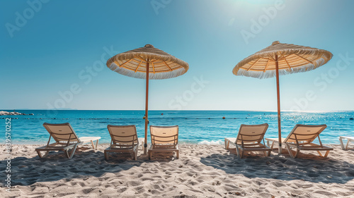
[[[133,159],[137,160],[139,145],[143,145],[144,139],[137,137],[135,125],[108,125],[110,133],[110,147],[105,149],[105,159],[108,160],[108,153],[130,153]]]

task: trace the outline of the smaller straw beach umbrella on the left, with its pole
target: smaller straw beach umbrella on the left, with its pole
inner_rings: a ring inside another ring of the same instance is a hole
[[[108,59],[107,66],[116,73],[146,79],[144,154],[147,154],[149,79],[175,78],[183,75],[189,68],[188,63],[154,48],[152,44],[146,44],[144,47],[113,56]]]

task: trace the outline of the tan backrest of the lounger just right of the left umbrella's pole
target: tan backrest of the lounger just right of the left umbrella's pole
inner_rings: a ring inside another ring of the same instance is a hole
[[[178,144],[178,125],[150,125],[150,135],[152,137],[152,145],[154,147],[176,147]]]

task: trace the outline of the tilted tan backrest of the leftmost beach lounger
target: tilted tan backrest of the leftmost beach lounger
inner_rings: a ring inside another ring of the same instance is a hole
[[[69,123],[62,123],[62,124],[43,123],[43,126],[53,137],[55,142],[60,142],[60,143],[81,142],[79,137],[77,137],[76,133],[74,132],[74,129]]]

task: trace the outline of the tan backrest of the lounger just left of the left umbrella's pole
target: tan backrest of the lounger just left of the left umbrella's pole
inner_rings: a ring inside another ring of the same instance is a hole
[[[139,144],[135,125],[107,125],[110,144],[118,147],[132,147]]]

